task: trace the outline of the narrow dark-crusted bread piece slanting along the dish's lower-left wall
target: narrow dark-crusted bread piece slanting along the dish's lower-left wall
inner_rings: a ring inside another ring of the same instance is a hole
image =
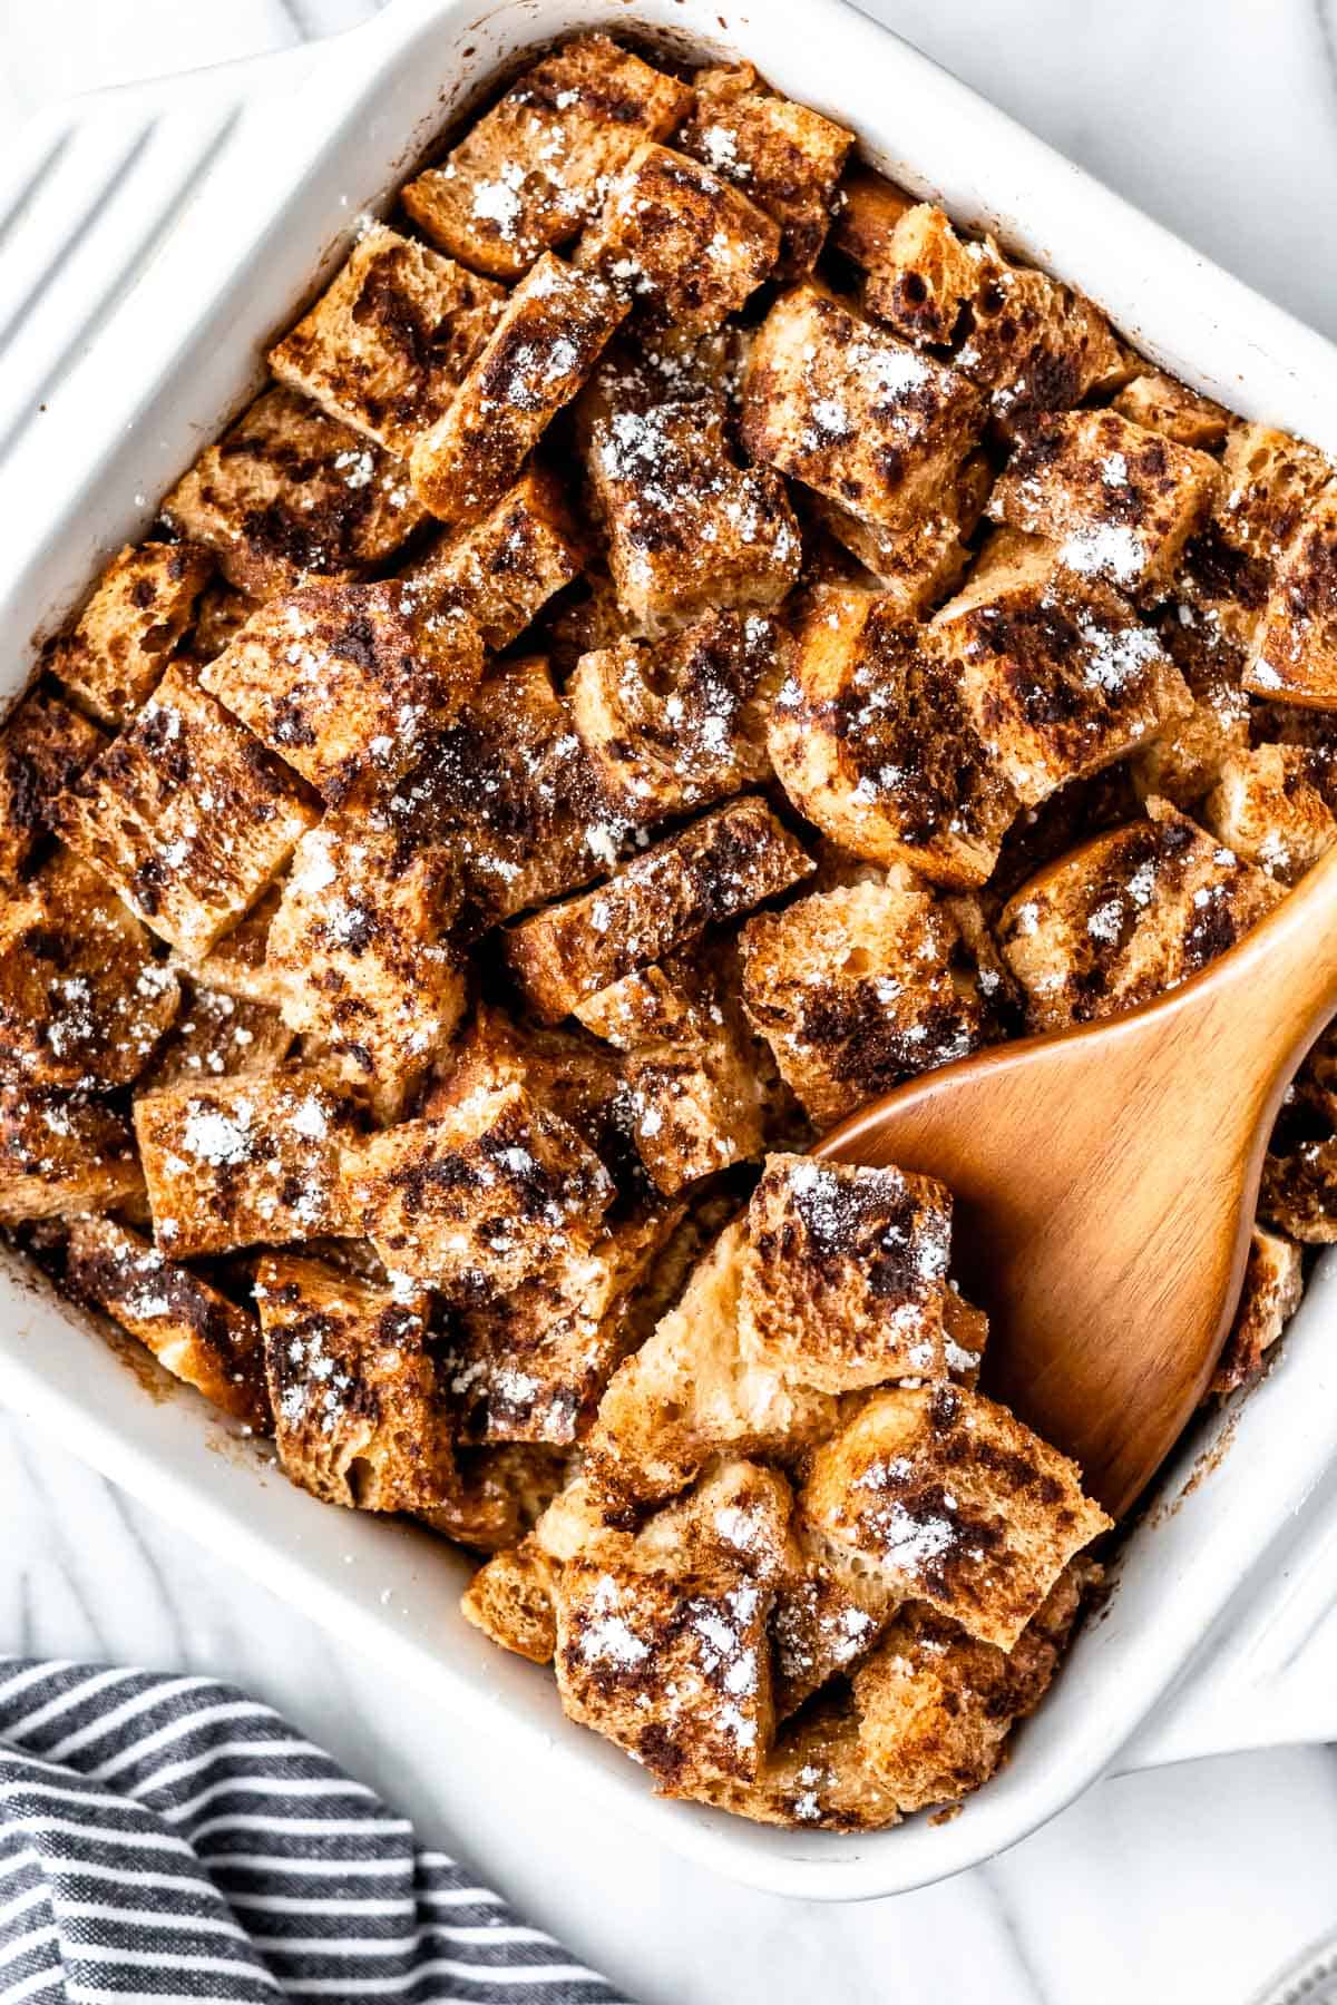
[[[261,1325],[116,1219],[74,1219],[64,1285],[136,1337],[164,1371],[269,1434]]]

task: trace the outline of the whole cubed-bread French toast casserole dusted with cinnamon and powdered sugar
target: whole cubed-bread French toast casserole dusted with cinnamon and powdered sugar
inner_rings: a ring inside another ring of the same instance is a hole
[[[659,1792],[950,1807],[1108,1520],[950,1193],[806,1151],[1337,840],[1337,467],[601,34],[267,361],[0,734],[0,1223]],[[1337,1039],[1217,1395],[1331,1241]]]

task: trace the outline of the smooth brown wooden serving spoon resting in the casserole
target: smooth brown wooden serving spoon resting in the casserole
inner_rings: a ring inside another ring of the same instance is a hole
[[[1249,1253],[1263,1155],[1337,1015],[1337,848],[1181,988],[900,1087],[818,1155],[938,1177],[986,1389],[1121,1516],[1207,1391]]]

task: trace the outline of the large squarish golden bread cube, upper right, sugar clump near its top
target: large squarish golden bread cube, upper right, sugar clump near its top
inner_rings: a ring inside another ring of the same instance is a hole
[[[940,509],[980,429],[982,397],[964,375],[818,285],[784,293],[752,345],[750,455],[862,521],[898,527]]]

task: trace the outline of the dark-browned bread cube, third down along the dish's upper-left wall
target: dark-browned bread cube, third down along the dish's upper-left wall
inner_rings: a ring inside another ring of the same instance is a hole
[[[255,599],[385,563],[423,511],[409,469],[291,389],[267,389],[206,445],[162,517]]]

